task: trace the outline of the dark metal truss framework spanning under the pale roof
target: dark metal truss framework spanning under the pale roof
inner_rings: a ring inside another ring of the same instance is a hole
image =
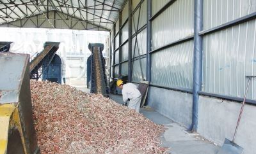
[[[0,24],[1,27],[110,31],[124,2],[125,0],[0,0]]]

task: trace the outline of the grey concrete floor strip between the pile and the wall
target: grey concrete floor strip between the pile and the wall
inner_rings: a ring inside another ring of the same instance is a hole
[[[122,104],[122,95],[111,95],[111,99]],[[153,122],[164,125],[166,130],[161,135],[161,146],[170,148],[172,154],[215,154],[219,146],[206,141],[202,136],[186,132],[186,128],[173,122],[150,108],[140,109],[140,113]]]

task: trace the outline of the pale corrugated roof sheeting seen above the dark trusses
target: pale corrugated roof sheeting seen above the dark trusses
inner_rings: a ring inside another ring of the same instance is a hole
[[[35,17],[39,17],[38,15],[43,15],[38,20],[47,20],[52,27],[54,25],[51,21],[54,20],[58,22],[76,20],[76,22],[88,22],[108,31],[113,27],[124,3],[125,0],[0,0],[0,24],[9,24],[32,17],[35,20]],[[49,12],[52,11],[63,13],[67,17],[50,17]],[[75,29],[75,27],[72,28]]]

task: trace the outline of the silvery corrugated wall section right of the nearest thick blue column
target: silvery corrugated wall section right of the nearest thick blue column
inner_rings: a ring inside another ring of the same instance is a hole
[[[204,29],[211,29],[256,11],[256,1],[204,1]],[[217,11],[218,10],[218,11]],[[203,90],[243,97],[248,79],[256,74],[256,20],[204,36]],[[248,99],[256,99],[256,82]]]

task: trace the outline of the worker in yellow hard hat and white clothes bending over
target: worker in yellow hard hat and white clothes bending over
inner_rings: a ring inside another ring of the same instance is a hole
[[[141,94],[136,85],[132,83],[124,84],[124,81],[117,80],[116,85],[122,89],[123,101],[127,102],[130,99],[128,108],[135,109],[136,112],[140,111]]]

